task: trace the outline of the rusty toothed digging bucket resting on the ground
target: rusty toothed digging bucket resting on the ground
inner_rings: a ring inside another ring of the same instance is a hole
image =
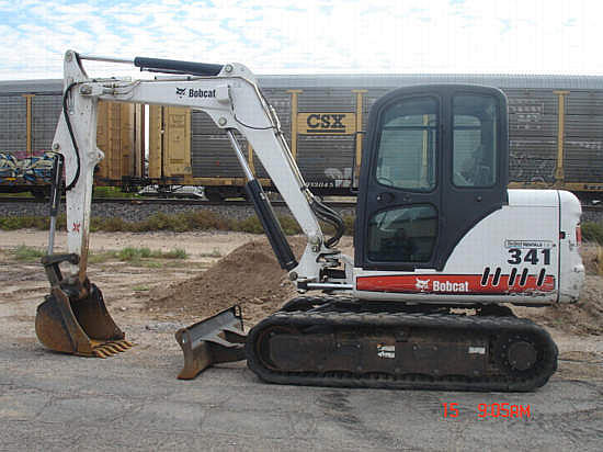
[[[106,310],[101,291],[90,284],[88,296],[70,300],[60,287],[37,307],[35,332],[50,350],[107,358],[133,347]]]

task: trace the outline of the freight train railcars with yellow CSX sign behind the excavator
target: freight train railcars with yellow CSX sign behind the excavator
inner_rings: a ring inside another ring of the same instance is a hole
[[[373,103],[410,84],[471,83],[509,98],[511,187],[603,191],[603,77],[598,76],[261,76],[308,184],[319,194],[350,194],[356,184]],[[0,82],[0,152],[16,160],[50,149],[61,105],[60,81]],[[96,180],[110,185],[203,185],[212,199],[239,196],[244,183],[230,143],[202,112],[150,106],[148,136],[140,105],[103,105]],[[239,137],[250,167],[271,187],[253,149]],[[145,150],[145,142],[148,149]],[[10,159],[10,158],[9,158]],[[19,181],[0,155],[0,190]],[[22,166],[26,167],[26,163]],[[2,178],[4,174],[4,178]],[[36,183],[25,181],[34,190]]]

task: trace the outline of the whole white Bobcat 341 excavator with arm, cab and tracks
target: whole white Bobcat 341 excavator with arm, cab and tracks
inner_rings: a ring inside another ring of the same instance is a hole
[[[156,80],[89,77],[84,60],[170,74]],[[251,71],[155,58],[65,56],[62,113],[53,149],[61,158],[48,256],[52,292],[36,331],[49,349],[106,357],[130,347],[87,278],[99,100],[186,106],[225,129],[281,267],[300,294],[243,334],[234,306],[177,332],[181,378],[247,359],[282,384],[533,391],[557,368],[550,336],[505,306],[578,300],[584,279],[578,200],[558,190],[508,190],[508,109],[494,88],[401,88],[373,106],[362,159],[355,256],[337,248],[340,216],[315,197]],[[235,131],[253,146],[304,234],[296,259]],[[54,255],[61,163],[67,255]],[[320,221],[335,227],[322,234]],[[61,272],[60,267],[65,271]],[[305,295],[306,292],[321,295]]]

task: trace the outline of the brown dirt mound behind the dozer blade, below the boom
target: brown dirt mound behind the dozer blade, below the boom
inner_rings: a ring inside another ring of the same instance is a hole
[[[289,239],[299,257],[305,239]],[[150,293],[147,308],[156,313],[182,313],[198,320],[234,304],[241,305],[247,325],[277,310],[296,291],[281,269],[266,239],[250,241],[193,279]]]

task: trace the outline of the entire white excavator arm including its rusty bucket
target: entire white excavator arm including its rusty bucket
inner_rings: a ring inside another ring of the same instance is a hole
[[[128,64],[141,70],[167,72],[159,80],[91,78],[82,61]],[[141,58],[133,60],[80,55],[68,50],[64,61],[62,112],[53,150],[62,155],[67,191],[68,255],[44,258],[52,295],[38,307],[36,331],[48,348],[86,355],[106,355],[129,347],[111,319],[100,290],[87,276],[90,212],[95,166],[104,155],[96,146],[99,101],[185,106],[207,113],[226,131],[247,178],[253,201],[281,267],[302,291],[352,289],[352,262],[334,245],[341,237],[341,218],[308,190],[280,128],[278,118],[258,88],[253,74],[238,63],[211,65]],[[182,76],[179,77],[178,75]],[[268,197],[235,136],[244,136],[308,238],[296,260]],[[319,218],[333,223],[338,233],[325,239]],[[54,229],[52,235],[54,234]],[[54,237],[50,237],[54,241]],[[343,262],[344,272],[329,269]],[[65,274],[60,271],[62,264]],[[344,274],[344,276],[342,276]],[[81,309],[82,306],[87,308]]]

